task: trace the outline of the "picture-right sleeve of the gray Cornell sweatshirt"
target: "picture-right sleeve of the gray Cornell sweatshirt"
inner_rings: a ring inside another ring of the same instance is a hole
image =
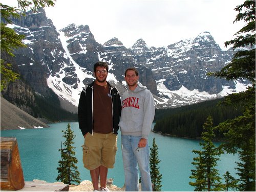
[[[142,138],[147,139],[151,132],[151,126],[155,116],[155,104],[153,95],[146,89],[145,101],[144,101],[144,119],[142,125]]]

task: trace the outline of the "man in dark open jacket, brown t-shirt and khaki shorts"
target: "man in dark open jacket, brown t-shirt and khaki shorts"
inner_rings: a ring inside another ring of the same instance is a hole
[[[78,105],[79,128],[84,136],[83,164],[90,170],[95,191],[109,191],[106,178],[115,163],[121,115],[119,92],[106,81],[108,70],[106,62],[95,63],[96,80],[83,88]]]

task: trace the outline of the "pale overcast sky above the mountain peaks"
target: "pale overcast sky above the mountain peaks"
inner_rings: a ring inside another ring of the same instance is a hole
[[[16,1],[16,0],[9,0]],[[2,2],[3,3],[3,2]],[[236,6],[244,0],[57,0],[46,15],[57,30],[88,25],[98,43],[113,37],[126,48],[139,38],[148,46],[167,46],[209,32],[226,50],[243,22],[235,22]]]

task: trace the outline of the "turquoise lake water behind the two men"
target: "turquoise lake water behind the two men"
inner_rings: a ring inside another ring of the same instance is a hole
[[[50,128],[6,130],[1,131],[1,136],[16,137],[25,181],[33,179],[45,180],[47,182],[56,182],[58,175],[57,167],[60,160],[61,141],[64,141],[61,130],[66,130],[68,123],[50,124]],[[83,167],[82,148],[83,136],[78,127],[78,123],[70,123],[74,131],[75,156],[78,159],[78,171],[80,179],[91,180],[90,172]],[[200,150],[200,140],[185,139],[170,136],[163,136],[157,133],[151,133],[148,138],[150,147],[152,147],[153,138],[158,146],[158,158],[161,162],[158,164],[160,174],[162,174],[162,191],[194,191],[194,187],[189,185],[189,176],[194,166],[192,150]],[[122,187],[124,184],[124,173],[121,154],[121,135],[118,132],[118,150],[114,169],[109,169],[108,178],[113,178],[113,184]],[[220,145],[220,142],[215,142]],[[238,155],[223,154],[218,161],[219,174],[223,177],[226,171],[237,178],[236,161]]]

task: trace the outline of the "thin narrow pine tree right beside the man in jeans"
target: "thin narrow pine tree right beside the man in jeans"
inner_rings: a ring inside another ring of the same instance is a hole
[[[160,160],[158,159],[158,147],[156,145],[155,138],[153,138],[153,145],[152,148],[150,148],[150,151],[150,176],[152,184],[154,185],[153,191],[161,191],[162,174],[159,172],[158,163],[160,163]]]

